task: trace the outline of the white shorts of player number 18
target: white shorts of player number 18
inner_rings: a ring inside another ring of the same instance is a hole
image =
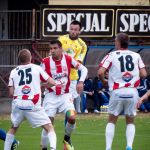
[[[118,116],[122,112],[124,115],[135,116],[138,98],[136,88],[114,90],[110,96],[108,112],[115,116]]]

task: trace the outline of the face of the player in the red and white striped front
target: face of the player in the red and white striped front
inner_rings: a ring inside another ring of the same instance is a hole
[[[52,57],[59,58],[62,54],[62,48],[58,44],[50,45],[50,53]]]

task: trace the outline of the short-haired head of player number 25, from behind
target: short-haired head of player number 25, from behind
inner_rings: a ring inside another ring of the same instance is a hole
[[[19,51],[18,58],[21,64],[31,63],[31,53],[28,49],[22,49]]]

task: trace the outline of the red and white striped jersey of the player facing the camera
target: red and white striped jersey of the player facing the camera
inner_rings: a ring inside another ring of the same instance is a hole
[[[80,65],[80,63],[67,54],[63,54],[59,61],[54,60],[52,56],[49,56],[44,58],[43,63],[41,64],[42,68],[55,80],[56,84],[63,83],[64,86],[59,89],[61,90],[60,94],[69,92],[70,69],[73,67],[79,69]],[[48,91],[55,91],[57,94],[56,89],[48,88]]]

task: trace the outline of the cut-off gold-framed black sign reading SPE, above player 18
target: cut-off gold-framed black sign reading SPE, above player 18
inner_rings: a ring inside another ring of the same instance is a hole
[[[149,9],[118,9],[116,33],[126,32],[131,37],[150,37]]]

